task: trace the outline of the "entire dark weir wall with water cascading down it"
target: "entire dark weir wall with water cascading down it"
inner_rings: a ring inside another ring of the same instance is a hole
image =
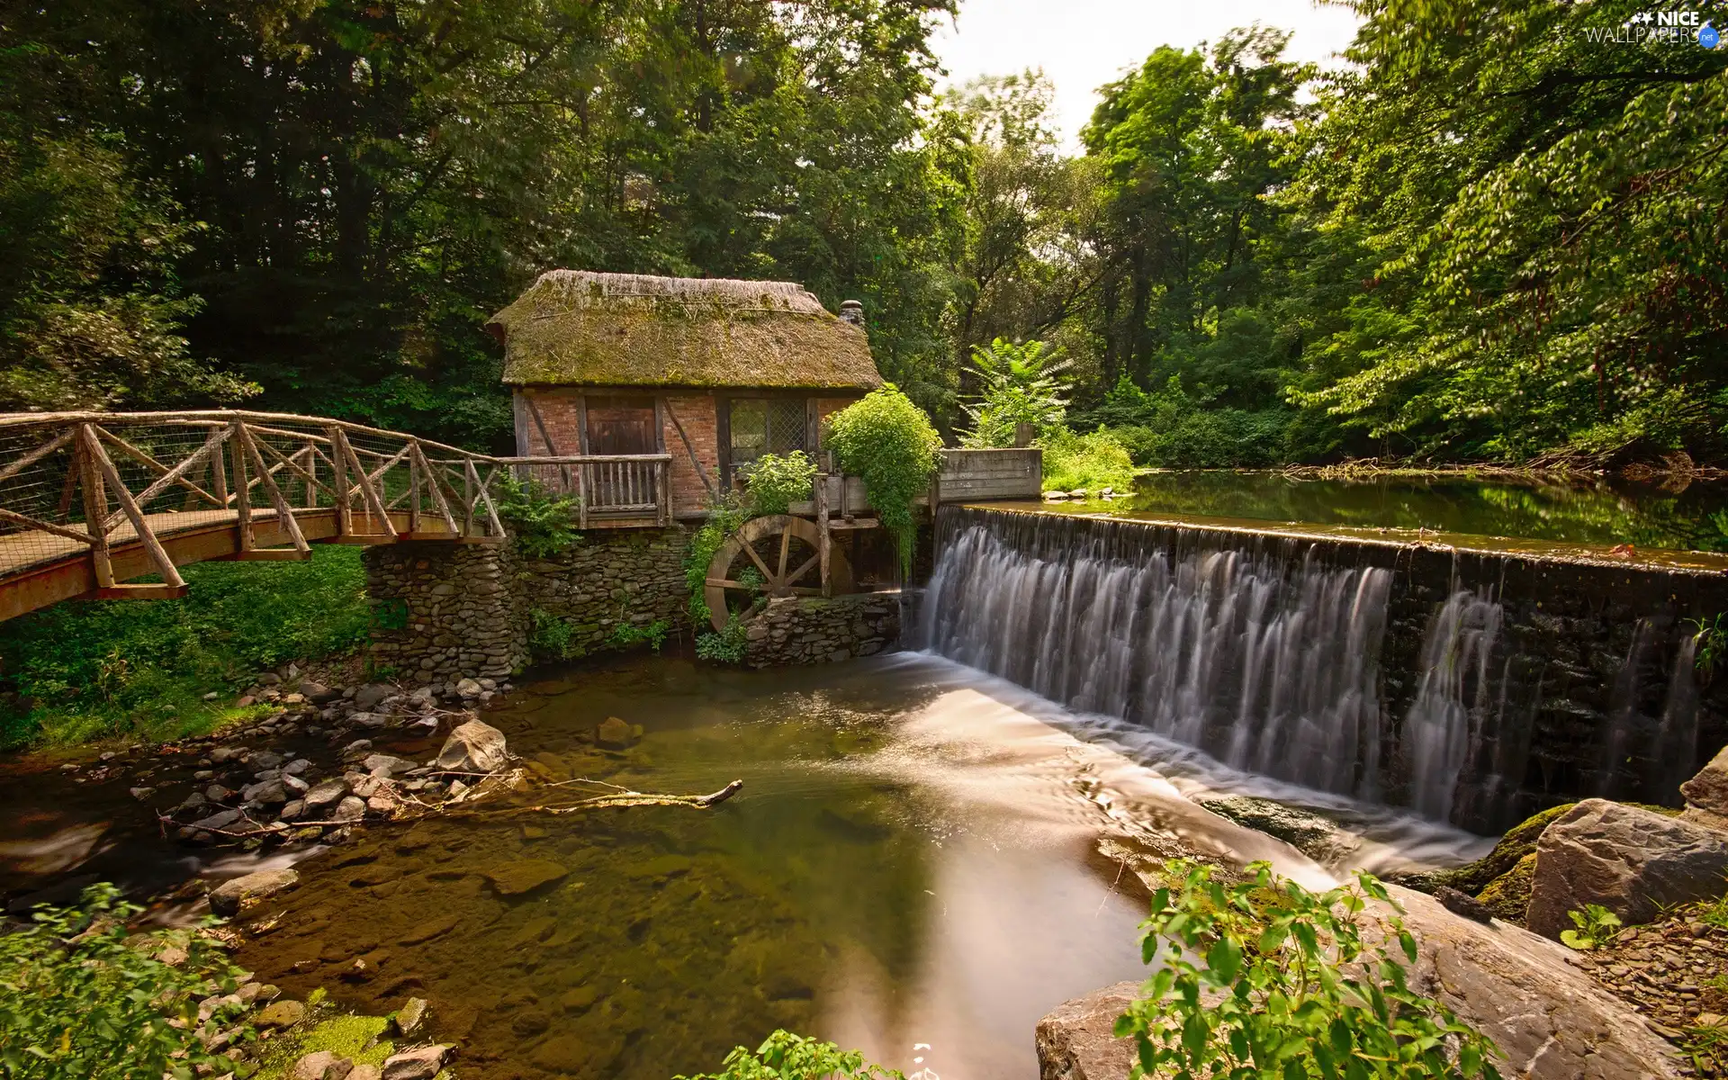
[[[921,645],[1227,764],[1502,831],[1678,805],[1728,741],[1728,574],[943,506]]]

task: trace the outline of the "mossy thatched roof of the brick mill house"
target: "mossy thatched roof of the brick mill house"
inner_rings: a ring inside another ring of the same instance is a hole
[[[791,282],[551,270],[487,330],[515,385],[881,385],[864,330]]]

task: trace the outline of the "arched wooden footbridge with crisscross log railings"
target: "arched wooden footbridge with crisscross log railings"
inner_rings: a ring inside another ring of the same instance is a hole
[[[513,468],[527,465],[316,416],[0,415],[0,620],[185,596],[176,567],[301,560],[314,543],[498,543]]]

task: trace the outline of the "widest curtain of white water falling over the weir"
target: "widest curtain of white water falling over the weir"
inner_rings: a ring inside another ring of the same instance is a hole
[[[1379,797],[1389,570],[1294,551],[1161,551],[1087,525],[950,530],[924,645],[1239,769]]]

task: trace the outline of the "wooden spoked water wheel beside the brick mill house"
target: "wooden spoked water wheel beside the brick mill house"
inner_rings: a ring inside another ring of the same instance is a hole
[[[821,565],[816,522],[788,513],[745,522],[708,563],[705,596],[714,629],[724,629],[729,612],[757,596],[821,596]],[[833,593],[852,591],[852,563],[838,544],[828,548],[828,584]]]

